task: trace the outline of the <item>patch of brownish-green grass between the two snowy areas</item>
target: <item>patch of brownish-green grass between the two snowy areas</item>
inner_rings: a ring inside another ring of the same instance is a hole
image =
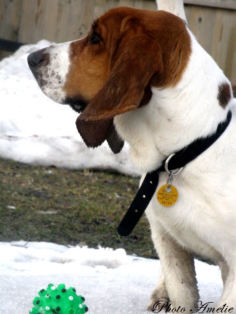
[[[138,183],[117,173],[0,159],[0,241],[101,245],[156,258],[145,215],[130,236],[117,234]]]

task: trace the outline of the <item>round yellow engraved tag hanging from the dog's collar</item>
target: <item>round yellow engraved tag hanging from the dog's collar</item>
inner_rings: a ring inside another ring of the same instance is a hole
[[[165,184],[159,188],[156,196],[158,202],[161,205],[170,207],[176,204],[178,199],[178,191],[174,185]]]

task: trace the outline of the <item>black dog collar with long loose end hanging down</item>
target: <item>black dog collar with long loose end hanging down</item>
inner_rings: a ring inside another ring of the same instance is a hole
[[[188,146],[184,147],[182,150],[178,151],[169,161],[168,169],[174,170],[185,166],[188,162],[192,161],[204,151],[207,150],[227,129],[232,118],[232,112],[229,111],[227,118],[224,122],[221,122],[214,134],[205,137],[198,138]],[[155,193],[159,182],[159,172],[165,171],[165,160],[163,160],[162,165],[148,173],[140,186],[138,193],[136,194],[133,202],[125,213],[123,219],[118,225],[118,234],[121,236],[130,235],[134,227],[137,225],[138,221],[142,217],[145,209]]]

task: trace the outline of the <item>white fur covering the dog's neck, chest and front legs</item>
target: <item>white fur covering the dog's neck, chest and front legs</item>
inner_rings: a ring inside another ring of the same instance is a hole
[[[161,297],[169,298],[172,307],[194,309],[199,294],[189,252],[221,265],[225,284],[218,307],[227,303],[236,308],[236,99],[225,109],[219,105],[218,86],[230,82],[190,36],[192,53],[180,82],[152,88],[147,106],[115,117],[134,164],[146,173],[195,139],[214,133],[228,110],[233,112],[220,138],[174,177],[177,203],[163,207],[155,193],[146,209],[163,272],[150,309]],[[167,179],[160,173],[157,188]]]

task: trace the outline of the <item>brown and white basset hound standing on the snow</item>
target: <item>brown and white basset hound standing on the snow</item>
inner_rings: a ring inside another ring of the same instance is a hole
[[[175,177],[175,206],[163,207],[154,195],[146,213],[161,261],[149,309],[160,300],[186,312],[194,308],[199,292],[192,253],[220,266],[218,307],[235,308],[236,99],[179,15],[115,8],[93,23],[87,37],[33,52],[28,62],[48,97],[82,112],[76,125],[89,147],[107,140],[117,153],[125,140],[144,174],[213,134],[232,111],[220,138]],[[160,173],[158,188],[167,179]]]

